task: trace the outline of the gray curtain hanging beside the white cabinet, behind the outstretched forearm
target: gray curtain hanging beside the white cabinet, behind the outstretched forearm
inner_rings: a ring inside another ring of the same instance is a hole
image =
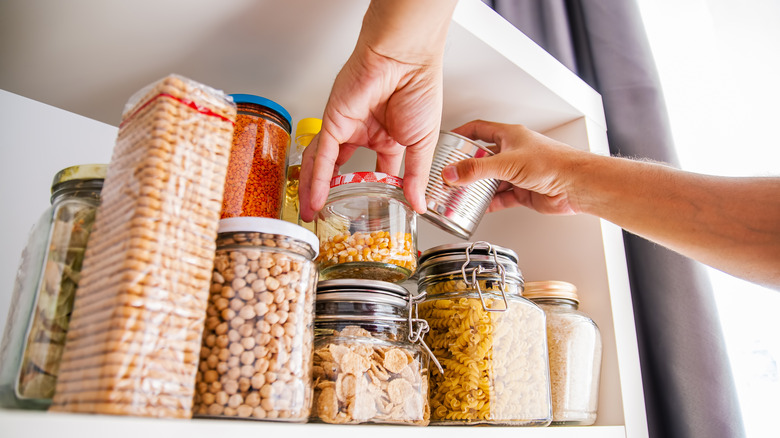
[[[632,0],[485,0],[598,91],[613,155],[677,165],[658,75]],[[701,266],[625,233],[652,437],[739,437],[744,427]]]

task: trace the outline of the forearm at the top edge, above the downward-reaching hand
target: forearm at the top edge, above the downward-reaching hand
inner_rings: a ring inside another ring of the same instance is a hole
[[[358,40],[399,60],[440,63],[457,0],[372,0]]]

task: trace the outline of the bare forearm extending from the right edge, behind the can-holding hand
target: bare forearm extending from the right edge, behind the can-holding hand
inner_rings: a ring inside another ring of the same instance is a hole
[[[728,178],[594,157],[572,181],[577,208],[683,255],[780,287],[780,179]]]

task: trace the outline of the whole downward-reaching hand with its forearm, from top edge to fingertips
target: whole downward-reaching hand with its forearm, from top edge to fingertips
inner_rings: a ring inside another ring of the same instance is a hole
[[[331,178],[358,147],[377,153],[379,172],[398,175],[404,162],[404,195],[415,211],[425,212],[441,125],[444,43],[456,4],[371,1],[355,50],[333,83],[322,130],[303,154],[303,220],[314,219]]]

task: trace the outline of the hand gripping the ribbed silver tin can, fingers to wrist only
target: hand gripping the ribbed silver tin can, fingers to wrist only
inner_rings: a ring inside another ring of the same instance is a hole
[[[570,176],[590,153],[555,141],[522,125],[475,120],[453,132],[494,143],[498,153],[470,158],[442,170],[445,182],[466,185],[479,179],[502,181],[488,211],[523,205],[540,213],[580,211]]]

